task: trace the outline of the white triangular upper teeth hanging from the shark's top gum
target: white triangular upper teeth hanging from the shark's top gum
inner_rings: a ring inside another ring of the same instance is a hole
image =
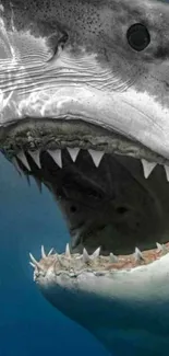
[[[68,151],[69,151],[70,157],[71,157],[71,159],[72,159],[73,162],[76,161],[76,158],[79,156],[80,150],[81,150],[80,148],[68,148]],[[90,157],[93,159],[94,164],[98,168],[99,164],[100,164],[100,162],[101,162],[101,159],[102,159],[105,152],[102,152],[102,151],[95,151],[95,150],[92,150],[92,149],[88,149],[88,152],[89,152],[89,154],[90,154]],[[33,160],[37,164],[37,166],[39,169],[41,169],[40,157],[39,157],[40,152],[39,151],[28,151],[28,153],[31,154],[31,157],[33,158]],[[57,150],[48,150],[48,153],[52,157],[52,159],[55,160],[55,162],[60,168],[62,168],[61,150],[60,149],[57,149]],[[28,171],[31,171],[31,166],[29,166],[29,164],[27,162],[27,159],[26,159],[24,152],[21,151],[20,153],[17,153],[16,157],[24,164],[24,166]],[[145,179],[147,179],[150,175],[150,173],[153,172],[154,168],[157,165],[157,163],[148,162],[145,159],[142,159],[141,162],[142,162],[142,165],[143,165],[144,176],[145,176]],[[16,162],[15,159],[14,159],[13,163],[16,166],[17,171],[21,171],[21,169],[19,168],[17,162]],[[165,171],[166,171],[167,181],[169,181],[169,166],[168,165],[164,165],[164,168],[165,168]]]

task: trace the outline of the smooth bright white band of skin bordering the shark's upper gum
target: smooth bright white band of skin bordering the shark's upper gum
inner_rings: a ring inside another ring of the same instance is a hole
[[[135,90],[113,93],[90,89],[88,82],[84,87],[36,88],[29,95],[17,97],[17,92],[14,92],[9,96],[1,110],[1,131],[11,123],[24,126],[26,119],[35,119],[35,125],[36,122],[44,125],[47,118],[56,122],[56,125],[59,120],[81,120],[136,141],[141,149],[147,148],[149,152],[164,158],[165,163],[169,159],[168,111],[157,105],[148,94],[136,93]],[[143,158],[147,156],[148,152]]]

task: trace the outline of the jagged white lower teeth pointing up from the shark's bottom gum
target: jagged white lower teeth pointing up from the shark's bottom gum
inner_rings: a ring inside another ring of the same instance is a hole
[[[161,252],[162,254],[166,254],[168,252],[165,244],[160,244],[160,243],[157,242],[156,246],[157,246],[157,252],[158,253]],[[79,255],[79,254],[71,255],[70,246],[69,246],[69,243],[68,243],[67,246],[65,246],[65,253],[63,255],[59,255],[58,253],[55,253],[55,254],[52,254],[52,253],[53,253],[53,249],[51,249],[49,251],[49,253],[46,254],[44,246],[41,246],[41,259],[44,261],[52,255],[52,256],[56,256],[56,259],[59,262],[61,268],[68,268],[68,263],[67,262],[72,260],[72,259],[74,259],[76,261],[81,260],[83,262],[83,264],[86,264],[86,265],[88,265],[90,262],[97,260],[100,256],[100,248],[98,248],[92,255],[89,255],[87,253],[85,248],[83,249],[83,254],[82,255]],[[32,253],[29,253],[29,257],[31,257],[29,264],[36,269],[36,272],[43,272],[44,273],[45,269],[44,269],[43,264],[40,262],[36,261],[36,259],[33,256]],[[62,257],[64,257],[64,260],[62,260]],[[135,248],[135,252],[133,253],[133,257],[134,257],[134,261],[136,263],[144,262],[144,256],[143,256],[143,254],[142,254],[142,252],[141,252],[141,250],[138,248]],[[117,264],[119,262],[119,257],[110,252],[108,262],[110,264],[114,264],[114,263]]]

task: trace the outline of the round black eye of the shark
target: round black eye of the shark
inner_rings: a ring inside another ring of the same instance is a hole
[[[145,49],[150,43],[149,32],[141,23],[135,23],[128,30],[126,38],[130,46],[137,51]]]

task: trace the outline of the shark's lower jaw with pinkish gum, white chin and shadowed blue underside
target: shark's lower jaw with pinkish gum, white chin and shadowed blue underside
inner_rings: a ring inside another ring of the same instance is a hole
[[[36,262],[34,279],[44,297],[67,317],[88,329],[112,354],[165,356],[168,342],[169,255],[136,268],[96,271],[87,260],[50,252]],[[86,254],[85,254],[86,259]],[[95,260],[98,260],[98,251]],[[67,263],[67,267],[65,267]],[[94,267],[95,264],[95,267]]]

